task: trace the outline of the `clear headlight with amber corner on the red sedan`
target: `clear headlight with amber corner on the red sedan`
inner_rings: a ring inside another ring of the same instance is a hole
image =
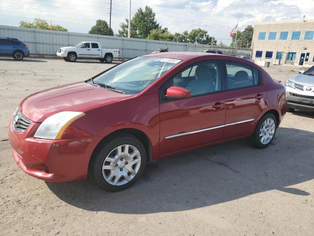
[[[61,139],[66,128],[76,119],[84,116],[83,112],[59,112],[40,124],[34,137],[39,139]]]

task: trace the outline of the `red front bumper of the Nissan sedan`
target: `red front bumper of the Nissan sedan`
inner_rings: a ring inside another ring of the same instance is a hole
[[[32,122],[24,133],[9,124],[12,156],[28,175],[49,182],[64,182],[87,177],[88,163],[101,137],[43,140],[33,137],[39,123]]]

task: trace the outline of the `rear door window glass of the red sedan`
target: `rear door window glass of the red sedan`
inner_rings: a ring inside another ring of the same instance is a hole
[[[226,62],[227,88],[239,89],[261,84],[259,71],[251,66],[235,62]]]

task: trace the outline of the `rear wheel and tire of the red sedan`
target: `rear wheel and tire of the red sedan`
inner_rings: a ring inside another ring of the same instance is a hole
[[[266,148],[274,140],[276,130],[276,117],[271,113],[264,115],[257,124],[255,131],[251,136],[251,142],[253,146],[256,148]]]

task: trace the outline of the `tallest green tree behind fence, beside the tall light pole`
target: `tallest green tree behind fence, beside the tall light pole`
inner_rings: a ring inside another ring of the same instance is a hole
[[[121,23],[118,35],[128,35],[129,21],[126,19],[126,23]],[[145,6],[145,10],[140,7],[131,19],[131,37],[132,38],[147,38],[148,34],[153,29],[160,28],[159,24],[155,20],[155,12],[149,6]]]

